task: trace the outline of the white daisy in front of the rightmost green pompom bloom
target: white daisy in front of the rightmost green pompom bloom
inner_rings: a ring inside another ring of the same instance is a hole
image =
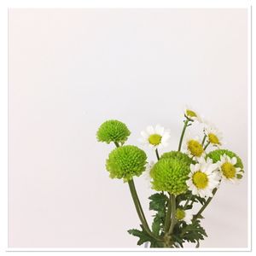
[[[236,156],[230,158],[230,156],[224,154],[220,156],[220,160],[217,162],[220,173],[224,180],[231,183],[239,181],[238,176],[242,176],[243,172],[240,167],[236,167]]]

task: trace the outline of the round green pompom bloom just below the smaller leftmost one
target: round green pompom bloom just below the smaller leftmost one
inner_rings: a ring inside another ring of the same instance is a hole
[[[147,155],[136,146],[123,146],[113,149],[108,155],[106,168],[110,172],[109,177],[124,178],[130,180],[133,176],[140,176],[145,171]]]

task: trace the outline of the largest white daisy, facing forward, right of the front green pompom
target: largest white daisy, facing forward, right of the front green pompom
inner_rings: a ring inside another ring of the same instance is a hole
[[[190,165],[189,179],[186,181],[193,195],[202,198],[212,197],[212,189],[218,187],[218,164],[213,164],[210,158],[203,157],[195,165]]]

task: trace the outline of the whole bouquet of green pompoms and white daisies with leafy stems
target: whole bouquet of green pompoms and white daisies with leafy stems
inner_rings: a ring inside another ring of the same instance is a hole
[[[202,126],[201,139],[188,136],[186,132],[194,123]],[[185,242],[192,242],[199,247],[200,241],[207,236],[201,226],[202,213],[220,183],[241,179],[244,171],[240,157],[222,149],[221,133],[190,108],[184,110],[177,150],[160,155],[160,148],[166,147],[171,137],[164,127],[148,126],[141,132],[141,143],[155,151],[155,162],[148,164],[147,154],[141,148],[125,145],[130,134],[127,126],[118,120],[104,122],[96,133],[99,142],[113,143],[116,147],[106,160],[109,177],[123,179],[131,191],[141,229],[128,230],[129,234],[139,238],[138,245],[149,242],[150,247],[183,247]],[[143,172],[148,173],[152,189],[156,191],[148,198],[149,210],[154,211],[151,227],[133,180]],[[200,207],[193,213],[195,205]]]

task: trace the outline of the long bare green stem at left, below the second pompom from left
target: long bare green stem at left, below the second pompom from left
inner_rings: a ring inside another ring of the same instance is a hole
[[[151,230],[148,227],[147,219],[145,218],[145,215],[144,215],[144,212],[143,212],[143,207],[142,207],[142,205],[139,201],[139,198],[137,196],[137,191],[136,191],[133,179],[129,180],[128,184],[129,184],[129,188],[130,188],[130,191],[131,191],[131,197],[133,199],[134,205],[135,205],[136,210],[137,210],[137,215],[140,218],[141,223],[143,224],[143,228],[146,230],[146,232],[148,233],[149,236],[153,237],[157,241],[161,241],[159,237],[154,236],[154,234],[151,232]]]

